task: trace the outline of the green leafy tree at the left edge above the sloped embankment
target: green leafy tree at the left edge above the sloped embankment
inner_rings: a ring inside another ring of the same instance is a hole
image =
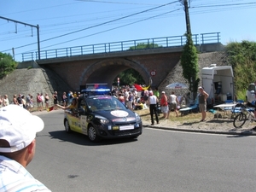
[[[0,53],[0,79],[15,70],[16,62],[9,54]]]

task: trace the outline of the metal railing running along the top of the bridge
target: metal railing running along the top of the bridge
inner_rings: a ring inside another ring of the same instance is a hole
[[[192,35],[195,45],[220,43],[220,32],[209,32]],[[48,49],[40,51],[40,59],[52,59],[60,57],[70,57],[75,55],[93,55],[119,51],[132,51],[137,49],[159,49],[178,47],[186,44],[187,38],[182,36],[172,36],[165,38],[145,38],[122,42],[105,44],[89,44],[83,46]],[[22,61],[38,60],[38,52],[28,52],[22,54]]]

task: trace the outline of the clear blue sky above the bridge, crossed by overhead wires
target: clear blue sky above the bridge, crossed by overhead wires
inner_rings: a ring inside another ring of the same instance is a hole
[[[189,1],[192,34],[220,32],[224,45],[256,42],[255,13],[255,0]],[[186,32],[179,1],[2,0],[0,52],[22,61],[22,53],[38,51],[35,26],[39,26],[41,50],[181,36]]]

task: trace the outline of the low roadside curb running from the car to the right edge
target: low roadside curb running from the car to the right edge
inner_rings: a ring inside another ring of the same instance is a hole
[[[209,133],[209,134],[221,134],[221,135],[240,135],[240,136],[256,136],[256,131],[210,131],[210,130],[190,130],[190,129],[179,129],[157,125],[143,125],[144,127],[170,130],[170,131],[183,131],[183,132],[198,132],[198,133]]]

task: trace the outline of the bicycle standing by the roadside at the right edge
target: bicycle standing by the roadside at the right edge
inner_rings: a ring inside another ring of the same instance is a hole
[[[256,119],[254,117],[254,108],[248,108],[247,106],[237,103],[235,108],[233,110],[240,110],[241,112],[238,113],[233,121],[233,125],[236,128],[241,128],[242,125],[245,124],[247,120],[249,120],[251,123],[256,122]]]

